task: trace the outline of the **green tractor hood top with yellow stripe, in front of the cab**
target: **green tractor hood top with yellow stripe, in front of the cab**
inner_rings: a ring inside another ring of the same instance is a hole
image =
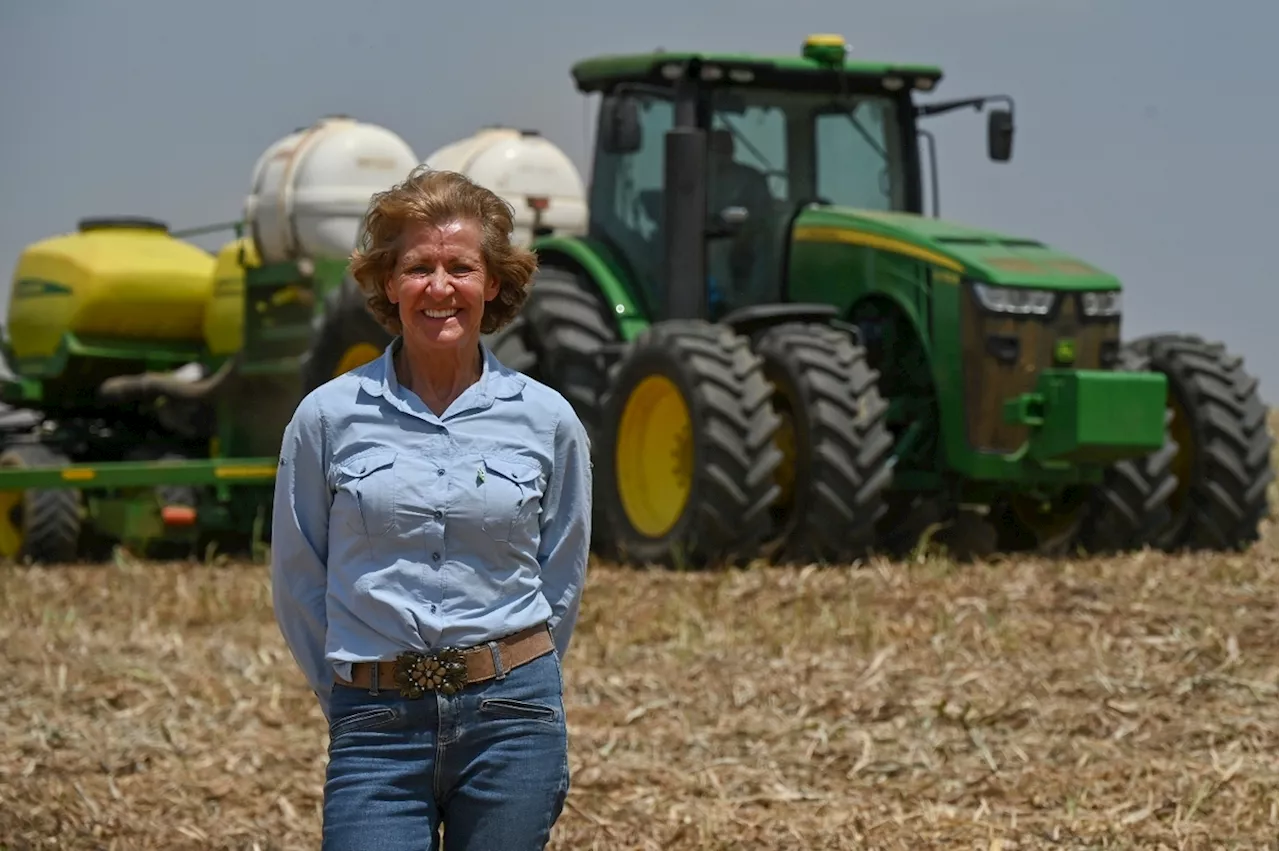
[[[906,212],[812,207],[796,220],[797,239],[860,243],[931,260],[966,278],[1012,287],[1119,289],[1101,269],[1036,239]]]

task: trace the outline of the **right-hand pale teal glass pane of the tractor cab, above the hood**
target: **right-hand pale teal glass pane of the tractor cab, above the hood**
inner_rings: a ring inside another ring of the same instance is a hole
[[[901,145],[895,106],[864,100],[852,111],[824,111],[814,120],[818,195],[864,210],[902,210]]]

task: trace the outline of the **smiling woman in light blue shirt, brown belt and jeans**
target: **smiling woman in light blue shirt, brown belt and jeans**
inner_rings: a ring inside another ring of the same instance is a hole
[[[325,848],[543,848],[568,791],[591,468],[568,403],[480,340],[536,267],[511,229],[454,173],[375,196],[352,274],[396,338],[284,433],[273,595],[329,720]]]

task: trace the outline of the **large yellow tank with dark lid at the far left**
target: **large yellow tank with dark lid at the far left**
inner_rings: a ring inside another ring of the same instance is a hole
[[[150,219],[86,219],[23,251],[9,292],[15,358],[78,338],[200,344],[214,257]]]

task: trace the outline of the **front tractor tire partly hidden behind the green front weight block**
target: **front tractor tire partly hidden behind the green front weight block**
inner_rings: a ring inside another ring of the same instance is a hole
[[[1116,369],[1146,372],[1151,362],[1126,346],[1120,349]],[[1165,421],[1171,422],[1172,416],[1166,415]],[[1111,465],[1085,503],[1078,539],[1080,546],[1089,554],[1105,555],[1155,545],[1160,530],[1172,518],[1169,498],[1178,488],[1176,454],[1178,444],[1166,426],[1164,447]]]

